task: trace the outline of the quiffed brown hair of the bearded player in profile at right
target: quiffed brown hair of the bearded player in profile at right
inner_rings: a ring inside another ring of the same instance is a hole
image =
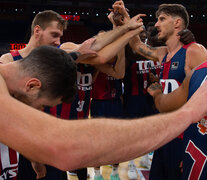
[[[171,16],[179,16],[184,20],[185,28],[189,24],[189,15],[186,8],[181,4],[161,4],[156,12],[156,17],[161,13],[165,13]]]

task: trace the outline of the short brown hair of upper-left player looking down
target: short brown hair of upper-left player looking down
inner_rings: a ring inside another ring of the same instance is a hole
[[[34,27],[36,25],[39,25],[43,30],[45,30],[52,21],[57,21],[60,29],[67,29],[67,21],[63,19],[60,14],[52,10],[45,10],[34,17],[31,25],[31,33],[34,33]]]

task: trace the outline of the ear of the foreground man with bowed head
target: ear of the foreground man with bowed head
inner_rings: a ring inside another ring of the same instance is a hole
[[[37,78],[29,79],[25,84],[25,91],[27,93],[36,93],[39,92],[40,88],[42,87],[42,82]]]

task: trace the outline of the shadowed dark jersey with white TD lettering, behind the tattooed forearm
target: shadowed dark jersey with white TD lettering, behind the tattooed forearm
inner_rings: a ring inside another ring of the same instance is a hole
[[[126,46],[126,73],[124,77],[124,117],[143,117],[156,113],[153,98],[147,93],[149,73],[159,77],[159,62],[146,60]]]

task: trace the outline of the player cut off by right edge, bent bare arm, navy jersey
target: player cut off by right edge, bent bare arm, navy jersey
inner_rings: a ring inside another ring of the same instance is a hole
[[[148,92],[153,96],[156,107],[160,112],[169,112],[178,109],[195,93],[206,81],[207,62],[199,65],[184,79],[182,85],[169,94],[162,93],[159,84],[152,84]],[[206,91],[204,89],[204,91]],[[201,105],[200,105],[201,106]],[[198,106],[197,108],[200,108]],[[184,148],[182,162],[182,179],[207,179],[205,159],[207,156],[206,116],[192,124],[184,131]]]

